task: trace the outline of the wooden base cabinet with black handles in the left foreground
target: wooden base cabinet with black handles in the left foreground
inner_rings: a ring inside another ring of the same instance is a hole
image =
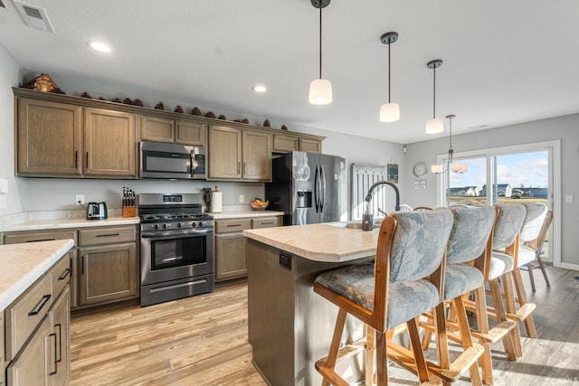
[[[4,338],[5,334],[2,354],[9,362],[5,371],[7,385],[69,383],[70,275],[62,272],[67,264],[70,267],[67,257],[60,259],[5,310],[5,328],[0,335]],[[3,375],[4,369],[3,365]]]

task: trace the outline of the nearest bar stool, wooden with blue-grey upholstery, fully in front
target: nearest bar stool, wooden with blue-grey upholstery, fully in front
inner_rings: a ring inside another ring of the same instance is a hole
[[[347,384],[335,372],[340,353],[350,349],[339,347],[347,314],[367,325],[366,384],[373,381],[369,378],[373,378],[374,352],[379,386],[388,382],[387,358],[417,373],[421,382],[429,381],[418,317],[441,302],[444,255],[451,227],[452,213],[446,208],[394,212],[380,227],[374,263],[340,268],[316,278],[314,291],[339,307],[329,353],[316,362],[323,384]],[[401,347],[398,353],[390,353],[386,333],[404,323],[412,351]]]

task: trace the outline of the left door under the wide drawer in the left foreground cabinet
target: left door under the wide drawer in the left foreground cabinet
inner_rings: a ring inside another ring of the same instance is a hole
[[[52,385],[54,372],[55,336],[51,333],[50,317],[46,316],[19,356],[6,369],[8,386]]]

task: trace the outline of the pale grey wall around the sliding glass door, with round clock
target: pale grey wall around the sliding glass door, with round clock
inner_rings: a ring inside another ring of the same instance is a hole
[[[561,261],[579,266],[579,114],[537,120],[508,127],[498,127],[460,136],[452,136],[454,151],[459,153],[499,146],[513,146],[560,139],[561,140]],[[426,174],[426,190],[414,190],[413,182],[418,180],[412,174],[413,165],[423,161],[429,165],[436,163],[436,155],[448,152],[448,137],[417,142],[408,145],[404,183],[406,197],[413,206],[436,206],[436,175]],[[565,194],[573,194],[574,202],[566,203]]]

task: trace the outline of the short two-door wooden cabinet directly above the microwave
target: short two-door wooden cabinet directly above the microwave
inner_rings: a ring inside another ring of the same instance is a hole
[[[142,115],[139,138],[142,141],[204,146],[206,131],[206,125],[202,123]]]

